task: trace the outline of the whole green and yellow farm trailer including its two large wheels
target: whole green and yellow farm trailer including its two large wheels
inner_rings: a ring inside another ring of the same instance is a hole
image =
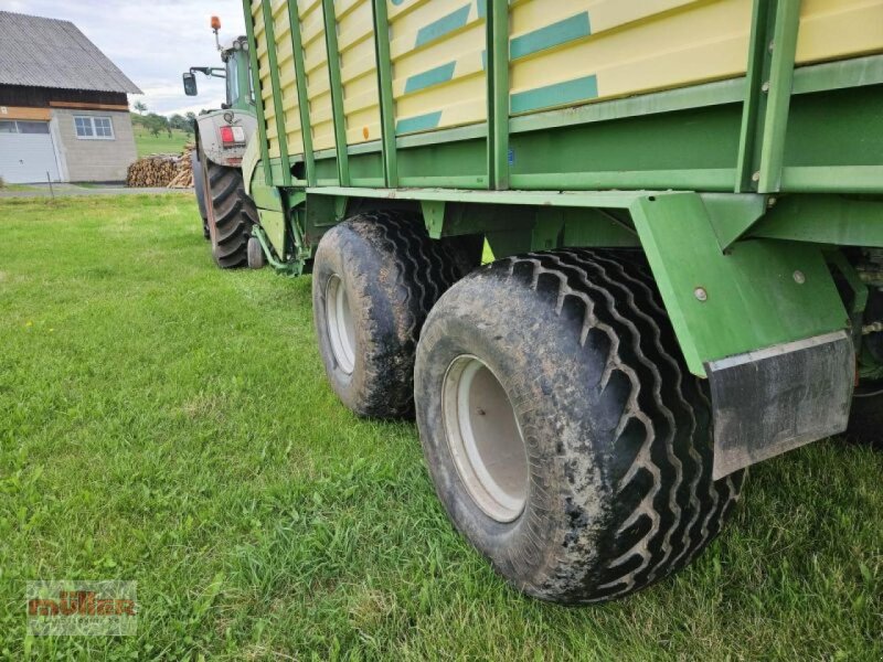
[[[513,585],[626,596],[751,465],[879,439],[883,1],[243,7],[253,232]]]

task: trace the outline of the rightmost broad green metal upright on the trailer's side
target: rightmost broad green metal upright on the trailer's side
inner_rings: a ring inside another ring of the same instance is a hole
[[[736,192],[781,188],[800,0],[755,0]]]

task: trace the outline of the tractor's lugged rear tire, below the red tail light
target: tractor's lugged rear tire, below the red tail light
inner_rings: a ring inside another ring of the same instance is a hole
[[[258,222],[257,207],[245,193],[241,170],[219,166],[204,156],[202,164],[212,257],[222,269],[244,267],[252,227]]]

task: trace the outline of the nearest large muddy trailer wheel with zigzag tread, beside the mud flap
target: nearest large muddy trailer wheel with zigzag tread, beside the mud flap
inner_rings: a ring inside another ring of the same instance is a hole
[[[541,599],[605,601],[683,567],[742,487],[712,480],[709,401],[623,254],[530,254],[455,285],[424,327],[415,404],[454,524]]]

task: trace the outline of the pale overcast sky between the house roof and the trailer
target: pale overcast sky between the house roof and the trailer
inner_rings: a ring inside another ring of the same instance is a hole
[[[184,96],[181,74],[221,65],[209,21],[221,17],[221,40],[245,34],[241,0],[0,0],[0,10],[73,21],[143,95],[129,95],[151,111],[219,108],[224,82],[198,74],[200,95]]]

